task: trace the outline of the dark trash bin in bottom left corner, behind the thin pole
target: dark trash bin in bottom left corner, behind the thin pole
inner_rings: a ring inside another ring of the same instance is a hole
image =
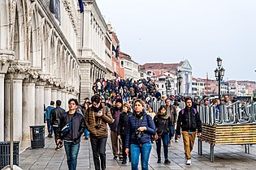
[[[13,164],[19,166],[19,143],[13,142]],[[0,169],[11,163],[11,142],[0,142]]]

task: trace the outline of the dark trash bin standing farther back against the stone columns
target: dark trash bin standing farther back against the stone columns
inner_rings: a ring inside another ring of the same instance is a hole
[[[45,147],[45,125],[31,125],[30,138],[32,148]]]

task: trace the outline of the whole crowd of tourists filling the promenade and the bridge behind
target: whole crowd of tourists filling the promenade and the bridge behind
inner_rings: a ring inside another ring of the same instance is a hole
[[[85,98],[83,104],[76,99],[68,101],[69,110],[61,108],[61,101],[51,101],[46,108],[49,138],[54,138],[56,150],[65,147],[69,169],[76,169],[80,138],[91,143],[96,170],[106,169],[106,142],[110,132],[113,159],[121,164],[131,162],[132,170],[138,169],[141,156],[142,170],[148,169],[152,145],[156,145],[157,163],[170,164],[168,148],[171,142],[184,142],[185,164],[191,164],[191,151],[196,136],[202,135],[202,121],[198,105],[228,104],[223,100],[192,99],[183,96],[158,94],[152,80],[104,80],[93,83],[94,96]],[[152,102],[160,102],[156,113]],[[180,104],[184,107],[180,108]],[[110,130],[108,130],[110,129]],[[181,135],[182,134],[182,135]],[[163,146],[164,158],[161,158]]]

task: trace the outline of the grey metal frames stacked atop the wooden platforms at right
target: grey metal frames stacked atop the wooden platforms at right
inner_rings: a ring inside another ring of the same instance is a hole
[[[218,124],[236,124],[236,123],[253,123],[256,122],[256,103],[242,104],[236,101],[229,105],[220,105],[220,109],[212,106],[197,107],[202,124],[218,125]]]

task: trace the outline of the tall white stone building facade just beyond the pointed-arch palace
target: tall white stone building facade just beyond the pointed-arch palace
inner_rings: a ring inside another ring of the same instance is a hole
[[[95,1],[84,1],[79,16],[80,101],[92,96],[93,83],[106,74],[107,25]]]

